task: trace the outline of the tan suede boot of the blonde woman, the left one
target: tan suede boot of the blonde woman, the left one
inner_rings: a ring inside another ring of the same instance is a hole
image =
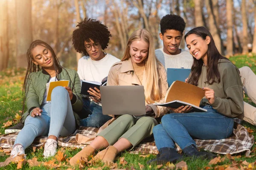
[[[84,147],[79,153],[77,153],[70,159],[70,165],[74,166],[76,164],[79,164],[79,161],[81,161],[82,159],[87,159],[93,153],[95,153],[95,149],[93,149],[93,147],[91,147],[90,145]]]

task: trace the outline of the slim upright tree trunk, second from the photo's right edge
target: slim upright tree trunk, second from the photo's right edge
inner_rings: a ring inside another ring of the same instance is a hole
[[[243,23],[243,52],[246,54],[248,52],[248,26],[247,26],[247,17],[246,17],[246,0],[241,2],[241,12],[242,12],[242,23]]]

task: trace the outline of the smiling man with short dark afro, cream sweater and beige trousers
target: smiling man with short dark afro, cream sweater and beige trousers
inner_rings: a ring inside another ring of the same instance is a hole
[[[160,39],[163,48],[155,50],[157,58],[166,68],[191,68],[193,57],[189,52],[180,49],[180,42],[186,23],[182,17],[167,14],[160,21]],[[239,68],[244,92],[256,104],[256,75],[249,67]],[[186,110],[186,107],[179,111]],[[244,113],[239,116],[252,125],[256,125],[256,108],[244,102]]]

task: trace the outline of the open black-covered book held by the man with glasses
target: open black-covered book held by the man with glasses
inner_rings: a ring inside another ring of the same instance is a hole
[[[87,96],[92,96],[91,94],[89,94],[87,92],[89,90],[89,88],[92,88],[93,90],[95,90],[94,88],[99,89],[100,86],[107,85],[107,80],[108,80],[108,77],[105,77],[102,80],[102,82],[93,82],[93,81],[83,80],[82,86],[81,86],[81,94],[84,94]]]

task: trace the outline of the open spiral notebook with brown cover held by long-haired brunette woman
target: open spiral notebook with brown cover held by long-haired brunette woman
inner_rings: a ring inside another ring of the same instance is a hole
[[[170,108],[189,105],[192,106],[191,112],[204,112],[207,110],[199,107],[203,97],[204,90],[202,88],[186,82],[175,81],[166,93],[165,103],[154,103],[154,105]]]

